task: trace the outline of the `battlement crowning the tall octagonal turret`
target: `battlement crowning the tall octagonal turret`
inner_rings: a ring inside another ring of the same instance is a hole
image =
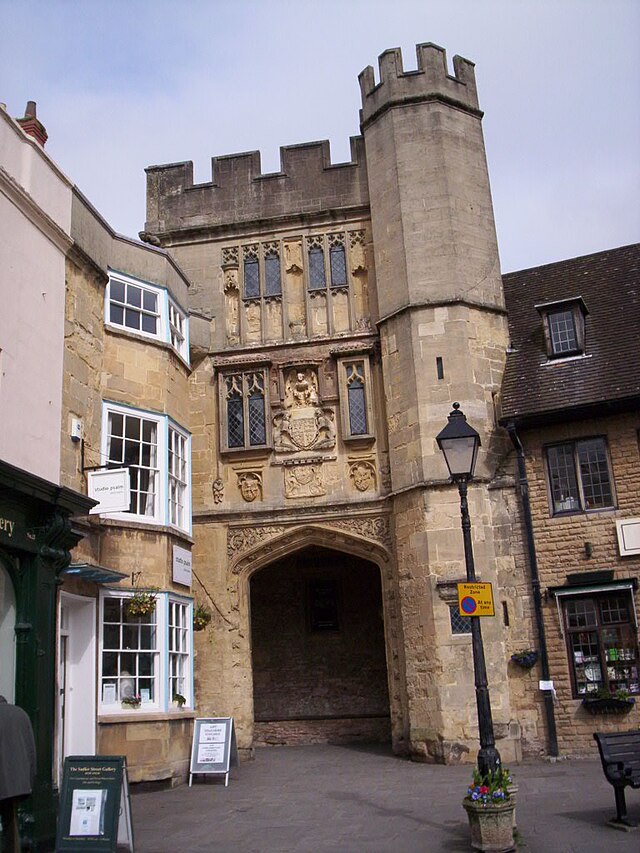
[[[444,48],[427,42],[416,45],[417,71],[404,71],[400,48],[385,50],[378,58],[380,82],[376,83],[369,65],[358,75],[362,95],[360,112],[363,129],[393,106],[444,100],[481,115],[474,64],[461,56],[453,57],[455,76],[447,71]]]

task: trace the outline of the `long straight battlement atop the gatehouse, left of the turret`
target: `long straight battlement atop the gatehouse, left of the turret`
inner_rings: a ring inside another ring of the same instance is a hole
[[[260,152],[213,157],[212,180],[193,183],[193,163],[150,166],[149,235],[293,218],[369,204],[364,143],[351,138],[351,162],[332,163],[328,140],[280,148],[280,171],[262,174]]]

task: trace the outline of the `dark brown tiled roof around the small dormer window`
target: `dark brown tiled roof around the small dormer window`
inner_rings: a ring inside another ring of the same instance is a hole
[[[507,355],[502,421],[543,422],[564,413],[640,402],[640,244],[503,276],[513,352]],[[582,297],[584,356],[548,359],[535,306]]]

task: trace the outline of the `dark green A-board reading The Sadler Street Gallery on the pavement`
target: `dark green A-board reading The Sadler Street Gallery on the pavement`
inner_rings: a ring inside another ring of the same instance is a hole
[[[133,822],[123,755],[64,760],[56,853],[133,853]]]

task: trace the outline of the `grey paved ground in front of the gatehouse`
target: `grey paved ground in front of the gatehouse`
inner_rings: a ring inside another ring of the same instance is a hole
[[[512,768],[522,853],[638,853],[599,761]],[[414,764],[378,746],[257,750],[229,786],[194,782],[133,795],[137,853],[417,853],[470,851],[461,801],[468,766]],[[640,791],[627,789],[640,822]]]

